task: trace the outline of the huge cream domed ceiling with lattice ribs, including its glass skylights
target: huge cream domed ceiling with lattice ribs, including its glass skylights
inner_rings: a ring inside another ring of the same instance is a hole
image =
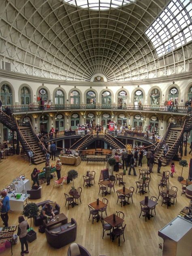
[[[190,70],[190,0],[1,0],[0,68],[131,81]]]

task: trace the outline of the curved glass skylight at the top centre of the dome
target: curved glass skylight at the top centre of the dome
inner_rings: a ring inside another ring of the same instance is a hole
[[[91,10],[107,10],[109,8],[119,8],[135,2],[135,0],[62,0],[62,2]]]

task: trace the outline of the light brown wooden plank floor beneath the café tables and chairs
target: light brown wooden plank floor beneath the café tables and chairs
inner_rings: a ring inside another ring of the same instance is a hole
[[[189,152],[189,150],[188,150]],[[190,160],[190,155],[187,157],[183,157],[183,159]],[[83,245],[87,248],[92,256],[157,256],[158,255],[158,230],[168,224],[173,218],[175,218],[179,211],[189,204],[189,199],[185,197],[185,195],[181,196],[181,184],[177,181],[177,177],[181,175],[181,167],[178,162],[175,162],[175,169],[177,171],[174,174],[173,178],[170,178],[170,186],[177,186],[178,196],[177,203],[175,205],[171,205],[169,209],[165,205],[161,206],[161,199],[158,201],[158,205],[156,206],[156,216],[151,218],[151,220],[147,220],[145,222],[145,218],[139,218],[140,214],[140,204],[139,202],[143,200],[144,196],[137,194],[133,194],[133,204],[126,205],[121,208],[120,204],[117,203],[117,194],[116,192],[112,192],[111,195],[107,195],[107,199],[109,200],[109,204],[107,207],[107,214],[111,215],[115,213],[115,211],[123,211],[125,213],[125,221],[124,224],[127,224],[125,230],[125,239],[121,237],[120,247],[118,247],[117,239],[115,241],[110,241],[109,236],[105,234],[104,239],[102,239],[102,225],[100,222],[94,221],[92,224],[91,220],[88,220],[88,203],[92,203],[96,201],[96,198],[100,198],[102,200],[102,196],[98,196],[98,183],[92,186],[91,188],[83,188],[82,191],[82,205],[79,204],[74,208],[64,207],[65,198],[64,192],[68,193],[72,184],[64,184],[61,188],[53,188],[53,179],[51,180],[50,186],[46,186],[44,183],[43,186],[43,196],[41,199],[33,200],[33,202],[41,202],[47,199],[52,201],[56,201],[61,209],[60,212],[63,212],[68,220],[70,218],[75,218],[77,221],[77,239],[75,242]],[[40,164],[38,168],[42,168],[44,164]],[[30,174],[32,173],[33,168],[36,166],[30,166],[29,162],[21,158],[20,156],[9,156],[7,159],[2,160],[0,163],[0,181],[1,181],[1,189],[5,186],[9,185],[9,183],[17,177],[19,174],[24,173],[27,179],[30,179]],[[143,168],[146,167],[146,164],[143,165]],[[82,175],[86,174],[87,170],[96,171],[96,181],[98,181],[100,176],[100,170],[104,169],[104,163],[88,163],[82,162],[79,166],[62,166],[62,176],[67,175],[67,171],[70,169],[76,169],[79,173],[77,179],[75,179],[75,188],[78,186],[83,186],[83,177]],[[162,171],[169,170],[170,166],[162,167]],[[136,169],[137,175],[139,174],[139,167]],[[157,175],[157,165],[154,165],[153,169],[154,173],[151,174],[151,183],[150,183],[150,192],[146,195],[150,196],[158,196],[158,183],[160,182],[160,176]],[[188,177],[188,168],[183,169],[183,177],[186,179]],[[135,181],[139,179],[139,175],[137,177],[131,175],[126,175],[126,187],[130,186],[136,187]],[[115,190],[119,189],[119,186],[115,186]],[[17,218],[21,213],[19,212],[10,212],[9,213],[9,225],[17,224]],[[105,216],[105,214],[104,214]],[[2,226],[2,220],[0,220],[0,226]],[[66,256],[68,245],[62,247],[60,249],[54,249],[49,246],[46,241],[45,234],[38,233],[38,227],[34,227],[34,230],[37,232],[37,239],[29,244],[30,256]],[[21,248],[20,243],[13,246],[13,255],[20,255]],[[1,253],[1,256],[11,255],[11,250],[7,249],[6,252]]]

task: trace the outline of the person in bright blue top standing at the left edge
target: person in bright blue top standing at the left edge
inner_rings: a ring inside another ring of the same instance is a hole
[[[7,196],[6,191],[1,191],[1,196],[3,197],[3,200],[0,202],[1,218],[3,221],[3,225],[8,227],[8,211],[10,210],[9,196]]]

